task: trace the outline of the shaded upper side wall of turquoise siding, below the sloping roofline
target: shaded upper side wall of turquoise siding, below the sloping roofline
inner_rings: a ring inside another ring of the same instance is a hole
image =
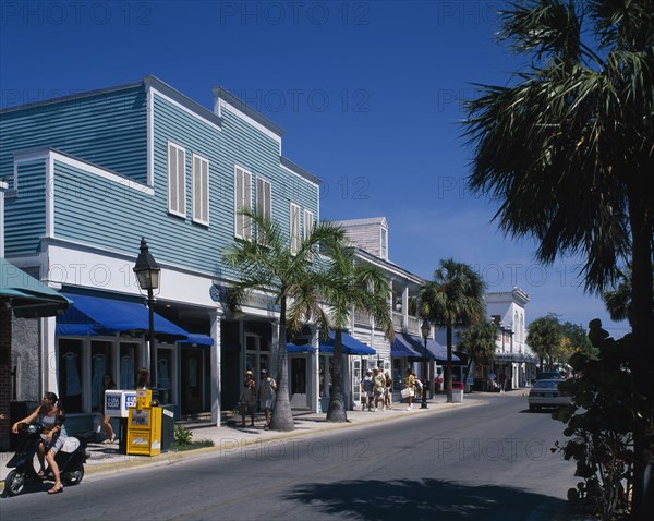
[[[0,178],[13,174],[13,153],[50,147],[145,183],[145,101],[131,87],[0,112]]]

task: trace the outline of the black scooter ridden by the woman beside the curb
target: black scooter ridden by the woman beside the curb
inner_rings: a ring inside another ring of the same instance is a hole
[[[35,482],[53,481],[52,471],[47,468],[44,476],[39,476],[34,470],[34,457],[41,443],[43,425],[34,423],[21,423],[19,431],[25,433],[19,450],[9,460],[7,467],[12,470],[4,480],[4,493],[9,496],[17,496],[25,488],[27,480]],[[86,441],[83,438],[66,437],[63,447],[55,456],[59,465],[61,482],[64,485],[77,485],[84,477],[84,463],[90,455],[86,451]]]

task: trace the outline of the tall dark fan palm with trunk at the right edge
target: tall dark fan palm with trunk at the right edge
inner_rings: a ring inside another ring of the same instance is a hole
[[[631,327],[639,347],[633,374],[652,425],[652,0],[529,0],[509,7],[500,13],[500,38],[530,59],[508,86],[482,86],[468,104],[470,187],[500,201],[500,228],[536,238],[545,264],[559,254],[583,254],[589,291],[603,291],[618,266],[631,263]],[[641,517],[654,511],[651,435],[634,438],[633,505]]]

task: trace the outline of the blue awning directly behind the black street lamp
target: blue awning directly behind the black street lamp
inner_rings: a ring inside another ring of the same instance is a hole
[[[69,294],[64,296],[73,300],[74,304],[63,315],[57,317],[58,335],[102,335],[149,329],[148,308],[144,304],[97,296]],[[189,338],[184,329],[157,313],[154,314],[154,326],[157,335],[169,335],[178,339]]]

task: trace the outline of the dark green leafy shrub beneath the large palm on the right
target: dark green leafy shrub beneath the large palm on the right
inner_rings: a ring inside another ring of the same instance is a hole
[[[610,520],[631,508],[634,435],[649,439],[652,458],[653,432],[645,420],[646,399],[634,385],[632,336],[614,340],[593,320],[589,337],[597,355],[574,353],[569,361],[574,377],[559,385],[574,405],[553,413],[567,424],[564,434],[571,439],[553,450],[577,461],[574,475],[583,480],[568,497],[592,502],[603,520]]]

